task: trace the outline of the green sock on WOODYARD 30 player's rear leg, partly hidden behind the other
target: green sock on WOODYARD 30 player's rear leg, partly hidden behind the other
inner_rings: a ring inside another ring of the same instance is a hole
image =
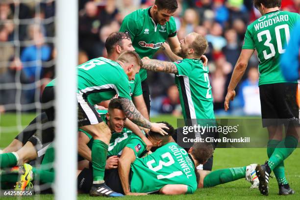
[[[269,158],[271,157],[271,155],[273,154],[275,148],[277,147],[277,145],[279,143],[280,143],[279,140],[269,140],[268,148],[267,148],[267,153],[268,153]],[[288,184],[288,181],[285,177],[284,171],[285,170],[284,170],[284,162],[283,161],[281,163],[279,163],[273,170],[278,184]]]

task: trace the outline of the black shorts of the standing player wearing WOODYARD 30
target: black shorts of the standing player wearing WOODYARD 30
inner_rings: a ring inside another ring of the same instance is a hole
[[[263,127],[293,123],[299,125],[298,83],[259,86]]]

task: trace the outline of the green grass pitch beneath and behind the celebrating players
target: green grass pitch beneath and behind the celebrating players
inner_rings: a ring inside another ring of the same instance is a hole
[[[0,147],[7,146],[12,139],[22,130],[22,125],[27,125],[35,114],[23,114],[16,117],[15,114],[0,115]],[[152,118],[152,121],[166,121],[176,127],[176,119],[164,115]],[[278,186],[275,177],[270,179],[269,196],[261,196],[258,190],[250,189],[250,183],[245,179],[218,185],[213,188],[198,189],[193,195],[162,196],[148,195],[139,197],[125,197],[124,200],[240,200],[240,199],[285,199],[300,200],[300,149],[297,149],[288,157],[285,163],[286,177],[290,186],[296,191],[295,195],[282,197],[278,194]],[[251,163],[264,163],[268,159],[266,149],[216,149],[214,153],[213,170],[243,167]],[[274,176],[274,174],[272,173]],[[1,200],[19,199],[16,197],[0,197]],[[54,195],[36,195],[35,197],[23,197],[22,200],[52,200]],[[78,195],[78,200],[95,200],[106,198],[92,198],[88,195]]]

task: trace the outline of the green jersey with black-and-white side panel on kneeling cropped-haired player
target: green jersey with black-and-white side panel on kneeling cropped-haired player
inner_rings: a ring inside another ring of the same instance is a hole
[[[215,119],[208,67],[199,59],[178,60],[174,64],[183,118]]]

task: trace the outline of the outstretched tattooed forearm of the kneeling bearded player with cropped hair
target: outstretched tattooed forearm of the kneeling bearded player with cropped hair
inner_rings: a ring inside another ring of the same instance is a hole
[[[172,62],[154,60],[154,59],[143,59],[142,68],[154,72],[166,72],[172,74],[178,74],[176,65]]]

